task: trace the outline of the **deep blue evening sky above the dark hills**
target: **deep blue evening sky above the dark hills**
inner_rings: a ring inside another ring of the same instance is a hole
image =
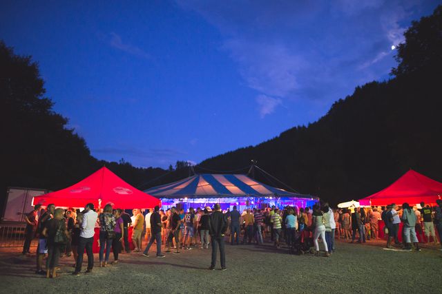
[[[388,78],[392,45],[438,3],[7,0],[0,39],[38,61],[93,156],[168,167],[307,125]]]

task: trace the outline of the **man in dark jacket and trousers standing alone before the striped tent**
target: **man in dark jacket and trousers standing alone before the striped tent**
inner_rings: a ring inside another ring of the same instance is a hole
[[[210,216],[209,233],[211,235],[212,244],[212,260],[209,269],[214,270],[216,265],[217,247],[220,249],[221,270],[226,268],[226,253],[224,251],[224,234],[227,230],[227,219],[221,212],[219,203],[213,207],[213,213]]]

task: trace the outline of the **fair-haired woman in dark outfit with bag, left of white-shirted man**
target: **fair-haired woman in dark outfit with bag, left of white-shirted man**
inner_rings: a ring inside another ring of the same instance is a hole
[[[68,242],[68,230],[64,220],[64,209],[57,208],[54,218],[45,223],[42,234],[48,242],[48,259],[46,260],[46,277],[57,277],[57,266],[61,251]]]

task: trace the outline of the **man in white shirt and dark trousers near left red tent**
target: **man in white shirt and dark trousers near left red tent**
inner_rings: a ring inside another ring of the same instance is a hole
[[[73,275],[79,275],[81,271],[81,264],[83,263],[84,249],[86,249],[86,254],[88,255],[88,269],[86,273],[92,273],[94,266],[94,254],[92,252],[92,244],[94,242],[95,234],[95,223],[97,222],[98,213],[94,211],[94,204],[88,203],[84,207],[83,211],[83,222],[81,222],[81,232],[78,241],[78,257],[77,266],[75,266],[75,271]]]

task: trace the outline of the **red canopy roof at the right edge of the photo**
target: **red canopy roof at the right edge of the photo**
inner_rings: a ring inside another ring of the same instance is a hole
[[[442,183],[432,180],[416,171],[410,169],[401,178],[398,178],[389,187],[374,193],[371,196],[359,200],[363,204],[387,205],[391,203],[436,204],[437,199],[442,196]]]

